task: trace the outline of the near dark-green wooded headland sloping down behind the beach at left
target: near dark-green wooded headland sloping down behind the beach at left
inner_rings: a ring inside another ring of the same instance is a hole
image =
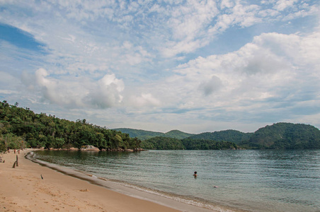
[[[55,115],[35,114],[29,108],[0,102],[0,151],[7,148],[81,148],[92,145],[99,150],[138,151],[141,141],[129,134],[78,119],[76,122]]]

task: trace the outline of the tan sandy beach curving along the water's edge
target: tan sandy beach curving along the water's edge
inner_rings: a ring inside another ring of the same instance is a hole
[[[209,211],[157,197],[149,201],[151,194],[121,194],[34,163],[25,158],[28,151],[1,155],[0,211]]]

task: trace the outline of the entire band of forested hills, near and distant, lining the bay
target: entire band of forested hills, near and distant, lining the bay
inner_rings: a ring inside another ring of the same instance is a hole
[[[188,134],[140,129],[108,129],[72,122],[55,115],[35,114],[29,108],[0,102],[0,151],[6,148],[70,149],[95,146],[100,151],[307,149],[320,148],[320,131],[308,124],[277,123],[253,133],[236,130]]]

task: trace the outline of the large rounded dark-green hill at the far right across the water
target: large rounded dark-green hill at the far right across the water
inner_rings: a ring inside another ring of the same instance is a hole
[[[258,129],[242,145],[253,148],[320,148],[320,131],[307,124],[277,123]]]

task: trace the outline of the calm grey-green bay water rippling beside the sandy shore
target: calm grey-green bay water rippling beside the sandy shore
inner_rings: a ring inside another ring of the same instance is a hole
[[[36,155],[207,208],[320,211],[320,150],[39,151]]]

